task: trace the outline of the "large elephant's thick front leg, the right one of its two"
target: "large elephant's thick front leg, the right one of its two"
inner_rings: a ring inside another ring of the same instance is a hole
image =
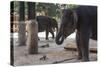
[[[89,61],[89,37],[90,31],[89,28],[84,28],[80,32],[80,43],[82,50],[82,61]]]

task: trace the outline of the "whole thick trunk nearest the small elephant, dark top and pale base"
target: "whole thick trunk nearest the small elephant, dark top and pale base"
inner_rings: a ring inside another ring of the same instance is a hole
[[[38,24],[35,21],[35,3],[28,2],[28,53],[38,53]]]

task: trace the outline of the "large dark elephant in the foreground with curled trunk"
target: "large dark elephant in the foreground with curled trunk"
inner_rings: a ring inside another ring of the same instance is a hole
[[[89,61],[89,38],[97,40],[97,6],[64,9],[55,42],[60,45],[76,30],[78,59]]]

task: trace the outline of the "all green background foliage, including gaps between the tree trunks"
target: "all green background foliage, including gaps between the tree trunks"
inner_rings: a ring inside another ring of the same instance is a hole
[[[75,4],[57,4],[57,3],[36,3],[36,13],[44,12],[45,15],[54,17],[54,18],[60,18],[61,17],[61,11],[63,9],[74,9],[77,8],[78,5]],[[27,2],[25,2],[25,14],[27,14]],[[19,1],[14,1],[14,11],[19,12]]]

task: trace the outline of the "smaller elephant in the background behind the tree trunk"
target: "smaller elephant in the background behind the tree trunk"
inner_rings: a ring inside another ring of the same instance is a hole
[[[54,18],[49,16],[36,16],[36,21],[38,23],[38,32],[46,31],[46,40],[48,40],[49,32],[52,34],[52,38],[54,38],[54,30],[58,30],[58,24]]]

